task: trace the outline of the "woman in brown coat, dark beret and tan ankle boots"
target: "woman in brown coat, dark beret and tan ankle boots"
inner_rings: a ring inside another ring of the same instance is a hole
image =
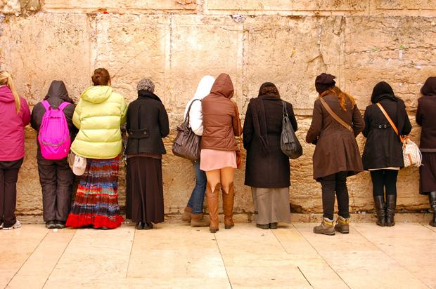
[[[334,79],[331,74],[316,76],[319,98],[306,135],[306,142],[316,145],[314,179],[322,186],[323,220],[314,227],[314,233],[326,235],[334,235],[335,231],[349,233],[347,177],[363,170],[356,137],[364,129],[364,120],[354,98],[335,86]],[[333,227],[335,194],[339,217]]]

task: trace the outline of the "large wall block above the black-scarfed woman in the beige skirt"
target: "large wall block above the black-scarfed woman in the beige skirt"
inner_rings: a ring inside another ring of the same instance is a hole
[[[296,109],[312,109],[318,96],[316,75],[340,74],[343,25],[342,17],[248,18],[244,23],[244,95],[257,97],[262,83],[271,81]]]

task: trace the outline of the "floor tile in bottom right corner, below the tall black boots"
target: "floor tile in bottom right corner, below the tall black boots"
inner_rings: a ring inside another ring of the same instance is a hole
[[[429,226],[430,227],[430,226]],[[430,288],[436,288],[436,231],[422,224],[354,224],[354,228]],[[413,246],[411,241],[413,240]]]

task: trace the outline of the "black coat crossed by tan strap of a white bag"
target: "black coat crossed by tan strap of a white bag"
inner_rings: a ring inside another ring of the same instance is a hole
[[[380,100],[380,104],[397,126],[399,133],[409,135],[412,126],[404,102],[385,98]],[[402,143],[376,104],[366,107],[364,120],[363,134],[367,138],[362,156],[364,169],[404,167]]]

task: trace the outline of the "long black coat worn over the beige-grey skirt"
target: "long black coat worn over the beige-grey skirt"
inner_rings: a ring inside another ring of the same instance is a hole
[[[262,97],[259,97],[262,98]],[[260,148],[259,137],[255,134],[253,123],[254,109],[248,104],[243,128],[243,142],[247,149],[245,166],[245,184],[250,187],[281,188],[290,186],[289,158],[281,152],[280,137],[282,127],[282,102],[278,98],[262,98],[267,121],[267,138],[269,152],[264,155]],[[286,102],[286,109],[294,130],[297,120],[293,106]]]

